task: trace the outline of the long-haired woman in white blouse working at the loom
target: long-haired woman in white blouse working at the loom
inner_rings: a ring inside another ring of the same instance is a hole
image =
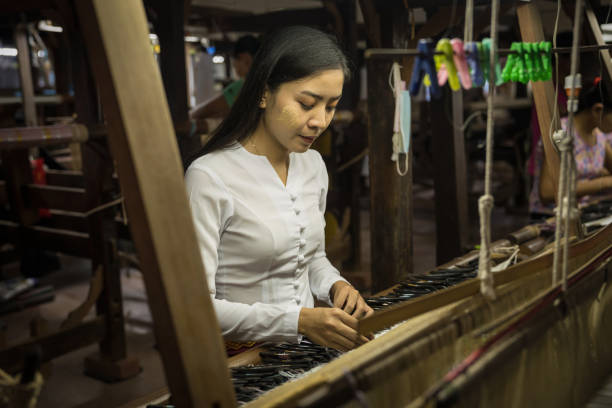
[[[186,184],[224,337],[339,350],[368,339],[373,313],[325,256],[328,177],[309,150],[349,76],[335,40],[289,27],[265,40],[228,117],[189,166]],[[335,307],[314,307],[313,294]]]

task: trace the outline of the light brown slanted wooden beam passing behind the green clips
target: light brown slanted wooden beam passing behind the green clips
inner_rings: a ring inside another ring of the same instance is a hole
[[[542,18],[535,4],[523,3],[517,6],[516,14],[521,29],[521,37],[526,42],[545,41],[544,30],[542,29]],[[549,129],[560,129],[561,123],[559,116],[553,117],[555,100],[555,90],[552,81],[538,81],[531,83],[533,89],[533,99],[535,101],[538,114],[538,124],[542,134],[542,144],[544,146],[544,162],[542,163],[542,173],[549,172],[557,199],[557,187],[559,185],[559,154],[553,146],[549,135]],[[559,110],[557,109],[557,112]]]

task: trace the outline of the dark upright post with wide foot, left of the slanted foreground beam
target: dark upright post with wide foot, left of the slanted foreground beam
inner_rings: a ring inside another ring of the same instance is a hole
[[[73,10],[64,7],[62,11],[64,19],[71,21],[65,26],[69,36],[77,120],[94,127],[101,122],[100,107],[85,44],[74,25]],[[86,208],[91,210],[113,198],[113,159],[106,139],[101,137],[89,138],[81,145],[81,152]],[[127,356],[113,208],[91,214],[87,224],[92,273],[103,268],[104,285],[96,302],[96,312],[106,317],[107,330],[99,344],[99,353],[85,358],[85,373],[104,381],[125,380],[140,373],[141,368],[137,359]]]

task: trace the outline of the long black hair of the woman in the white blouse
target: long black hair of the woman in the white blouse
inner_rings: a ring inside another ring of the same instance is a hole
[[[346,56],[334,37],[305,26],[285,27],[268,34],[229,115],[191,161],[253,133],[261,119],[259,102],[266,88],[273,93],[283,83],[328,69],[341,69],[345,80],[350,77]]]

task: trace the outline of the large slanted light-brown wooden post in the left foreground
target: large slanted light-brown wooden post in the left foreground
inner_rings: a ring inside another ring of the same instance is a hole
[[[180,407],[233,407],[227,358],[143,5],[124,0],[75,5],[173,401]]]

